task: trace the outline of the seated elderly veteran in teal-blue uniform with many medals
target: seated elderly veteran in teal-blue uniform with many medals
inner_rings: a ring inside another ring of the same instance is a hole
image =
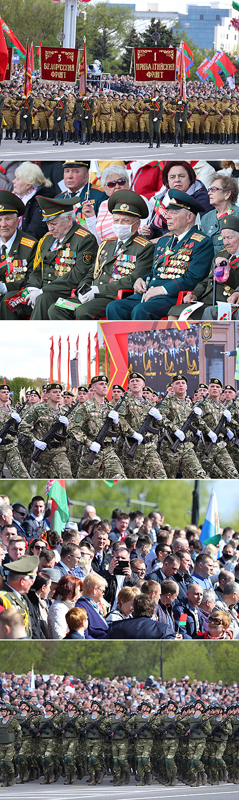
[[[108,305],[108,319],[165,317],[177,302],[179,291],[193,290],[198,278],[203,280],[209,274],[214,247],[210,238],[203,236],[195,226],[202,206],[179,190],[169,190],[168,195],[170,233],[159,239],[152,270],[148,265],[147,273],[137,278],[133,297]]]

